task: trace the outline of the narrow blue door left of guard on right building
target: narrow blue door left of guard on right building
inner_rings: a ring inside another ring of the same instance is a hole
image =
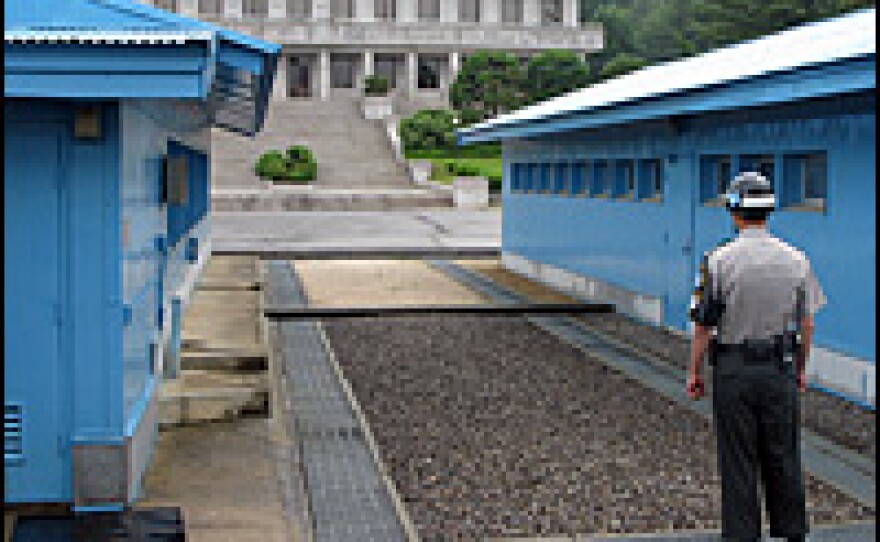
[[[667,277],[664,320],[667,325],[686,329],[688,306],[694,281],[694,161],[678,155],[666,161]]]

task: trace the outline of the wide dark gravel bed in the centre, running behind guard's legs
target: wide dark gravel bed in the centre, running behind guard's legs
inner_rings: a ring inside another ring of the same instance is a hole
[[[708,422],[524,319],[325,326],[423,539],[720,526]],[[874,518],[807,480],[815,524]]]

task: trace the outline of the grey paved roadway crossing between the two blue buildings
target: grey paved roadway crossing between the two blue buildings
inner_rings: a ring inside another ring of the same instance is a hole
[[[279,259],[497,254],[501,212],[212,213],[214,254]]]

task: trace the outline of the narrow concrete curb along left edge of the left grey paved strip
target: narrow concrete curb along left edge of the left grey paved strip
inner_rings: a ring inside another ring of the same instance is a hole
[[[264,312],[266,304],[265,298],[266,295],[268,295],[265,286],[268,282],[266,280],[266,264],[263,260],[257,260],[257,272],[260,277],[260,284],[262,285],[259,300],[257,302],[259,309],[258,326],[260,327],[260,337],[263,346],[266,349],[266,369],[270,376],[270,420],[272,432],[273,434],[278,435],[278,440],[280,441],[275,443],[277,452],[275,470],[278,473],[281,486],[280,489],[284,506],[284,523],[287,527],[287,534],[291,537],[293,542],[313,542],[314,533],[309,528],[309,526],[312,525],[309,507],[297,507],[297,503],[308,503],[308,494],[302,483],[297,483],[294,480],[295,477],[290,474],[290,468],[292,465],[295,464],[297,472],[300,473],[302,472],[302,468],[300,465],[299,454],[296,452],[296,444],[292,443],[290,440],[293,435],[289,433],[284,420],[281,418],[285,415],[286,405],[290,404],[290,400],[287,398],[284,379],[274,378],[276,375],[279,375],[280,365],[275,356],[275,343],[273,340],[275,336],[277,336],[277,333],[273,333],[275,328],[272,326],[269,319],[266,318]]]

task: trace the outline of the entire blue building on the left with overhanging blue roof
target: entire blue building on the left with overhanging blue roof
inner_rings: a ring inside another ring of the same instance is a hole
[[[123,0],[4,14],[4,501],[118,508],[210,253],[210,128],[260,129],[279,48]]]

